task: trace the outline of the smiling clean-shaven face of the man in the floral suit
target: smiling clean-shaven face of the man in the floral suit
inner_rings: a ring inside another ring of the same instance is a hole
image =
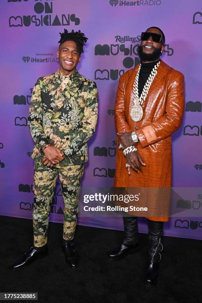
[[[59,50],[57,50],[57,57],[59,58],[59,70],[64,76],[71,75],[77,64],[80,62],[81,56],[77,50],[76,42],[65,41]]]

